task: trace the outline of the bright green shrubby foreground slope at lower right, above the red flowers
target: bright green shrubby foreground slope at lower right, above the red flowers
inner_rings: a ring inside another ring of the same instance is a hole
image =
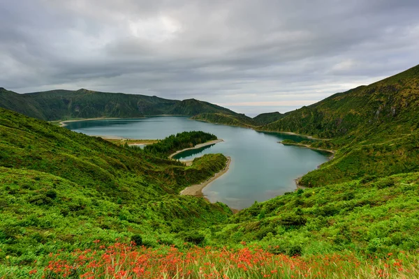
[[[297,190],[255,203],[212,229],[216,243],[257,243],[287,255],[419,249],[419,172]]]

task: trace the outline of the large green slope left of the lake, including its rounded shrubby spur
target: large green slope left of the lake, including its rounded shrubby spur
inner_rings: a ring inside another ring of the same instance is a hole
[[[61,248],[134,234],[148,246],[157,239],[182,246],[185,232],[230,210],[177,193],[225,163],[209,154],[185,167],[0,109],[0,263],[31,264]]]

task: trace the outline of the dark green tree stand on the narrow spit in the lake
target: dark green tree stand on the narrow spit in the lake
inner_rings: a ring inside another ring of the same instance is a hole
[[[202,131],[182,132],[176,135],[170,135],[155,144],[149,144],[144,147],[144,151],[154,156],[167,158],[170,154],[178,150],[191,148],[197,144],[203,144],[211,140],[216,140],[216,136],[210,133]]]

